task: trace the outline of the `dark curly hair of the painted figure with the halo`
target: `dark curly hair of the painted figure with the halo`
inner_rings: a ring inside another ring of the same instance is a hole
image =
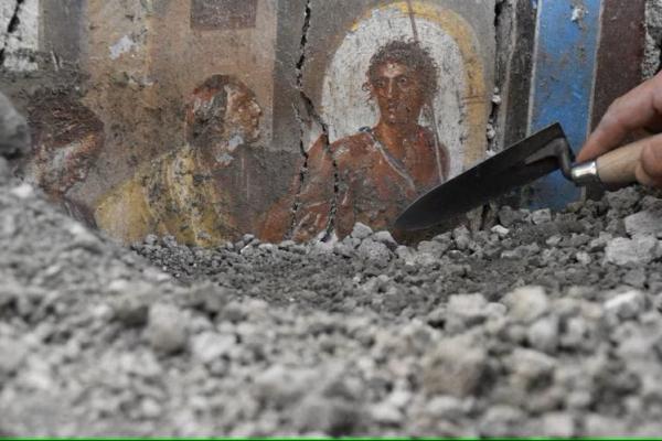
[[[394,40],[384,44],[370,58],[367,68],[367,83],[365,89],[378,77],[378,69],[385,63],[397,63],[410,67],[420,79],[424,93],[431,98],[436,93],[439,77],[439,67],[425,47],[417,41]]]

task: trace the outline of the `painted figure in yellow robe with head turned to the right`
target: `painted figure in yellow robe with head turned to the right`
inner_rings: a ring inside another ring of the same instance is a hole
[[[250,228],[238,225],[243,194],[224,185],[224,172],[241,169],[239,158],[259,139],[254,93],[237,78],[214,75],[193,92],[185,115],[186,143],[106,194],[95,212],[100,229],[125,243],[157,234],[211,247]]]

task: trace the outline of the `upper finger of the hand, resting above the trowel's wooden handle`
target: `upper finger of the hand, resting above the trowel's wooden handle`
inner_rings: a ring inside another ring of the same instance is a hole
[[[654,127],[662,119],[662,76],[643,83],[617,99],[590,135],[577,160],[595,159],[618,147],[633,130]]]

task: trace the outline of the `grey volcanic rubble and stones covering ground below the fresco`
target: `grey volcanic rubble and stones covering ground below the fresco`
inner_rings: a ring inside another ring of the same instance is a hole
[[[0,160],[1,161],[1,160]],[[0,189],[0,431],[659,434],[662,200],[147,259]],[[149,260],[153,262],[150,265]]]

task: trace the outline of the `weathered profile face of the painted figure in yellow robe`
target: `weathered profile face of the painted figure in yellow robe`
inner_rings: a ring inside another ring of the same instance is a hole
[[[226,86],[227,114],[225,129],[231,138],[241,137],[242,143],[255,142],[259,139],[259,118],[261,109],[255,95],[244,87]]]

